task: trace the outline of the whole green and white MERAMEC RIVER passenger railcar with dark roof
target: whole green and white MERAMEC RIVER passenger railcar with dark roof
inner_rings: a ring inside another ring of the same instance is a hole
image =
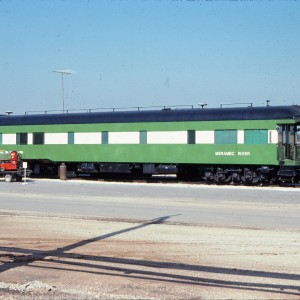
[[[299,128],[298,106],[10,115],[0,117],[0,147],[23,151],[35,173],[66,163],[86,173],[294,181]]]

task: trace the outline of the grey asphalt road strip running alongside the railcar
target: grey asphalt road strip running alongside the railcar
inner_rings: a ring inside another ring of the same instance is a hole
[[[91,218],[270,229],[300,228],[300,190],[188,184],[0,182],[0,209]]]

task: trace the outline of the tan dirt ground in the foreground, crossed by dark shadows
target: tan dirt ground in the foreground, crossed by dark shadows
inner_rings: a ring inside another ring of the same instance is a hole
[[[300,299],[299,236],[0,211],[0,299]]]

